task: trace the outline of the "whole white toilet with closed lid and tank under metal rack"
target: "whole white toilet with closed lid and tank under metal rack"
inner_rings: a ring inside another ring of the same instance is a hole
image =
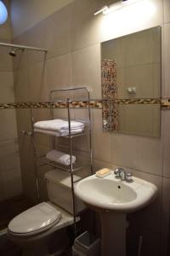
[[[49,235],[73,224],[70,173],[55,169],[45,177],[50,201],[20,213],[8,224],[8,237],[22,247],[24,256],[51,255],[48,253]]]

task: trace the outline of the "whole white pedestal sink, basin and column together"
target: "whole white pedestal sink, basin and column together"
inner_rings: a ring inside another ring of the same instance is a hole
[[[157,188],[138,177],[127,183],[113,172],[100,178],[92,175],[77,183],[76,195],[99,212],[102,225],[102,256],[126,256],[126,215],[137,211],[156,198]]]

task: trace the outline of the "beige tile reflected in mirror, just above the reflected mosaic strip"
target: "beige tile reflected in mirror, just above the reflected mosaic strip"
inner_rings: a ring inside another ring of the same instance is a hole
[[[135,67],[117,67],[116,79],[118,97],[128,98],[159,98],[161,96],[161,65],[144,64]],[[135,87],[133,96],[127,87]]]

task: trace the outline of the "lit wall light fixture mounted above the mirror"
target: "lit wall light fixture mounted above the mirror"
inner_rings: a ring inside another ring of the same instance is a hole
[[[96,11],[94,13],[94,15],[99,15],[99,14],[103,14],[103,15],[109,15],[112,12],[118,10],[118,9],[122,9],[122,7],[131,3],[136,3],[139,0],[118,0],[115,3],[111,3],[110,5],[106,5],[104,7],[102,7],[101,9],[99,9],[98,11]]]

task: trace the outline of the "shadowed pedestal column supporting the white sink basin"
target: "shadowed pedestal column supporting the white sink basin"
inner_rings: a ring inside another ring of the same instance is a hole
[[[126,256],[126,214],[99,212],[102,237],[101,256]]]

